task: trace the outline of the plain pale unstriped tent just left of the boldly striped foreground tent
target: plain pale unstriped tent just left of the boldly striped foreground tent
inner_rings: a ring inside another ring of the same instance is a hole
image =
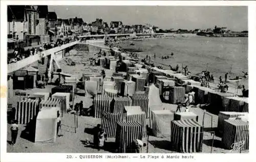
[[[170,122],[174,120],[174,113],[169,110],[152,111],[152,131],[155,137],[170,136]]]

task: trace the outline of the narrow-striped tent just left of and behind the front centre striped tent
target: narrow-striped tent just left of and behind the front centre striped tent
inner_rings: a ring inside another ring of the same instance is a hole
[[[107,138],[116,137],[116,125],[121,121],[121,113],[111,113],[104,111],[101,116],[101,127],[106,132]]]

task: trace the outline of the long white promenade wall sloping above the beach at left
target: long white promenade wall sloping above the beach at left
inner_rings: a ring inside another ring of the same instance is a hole
[[[78,43],[78,41],[71,42],[69,44],[63,44],[61,46],[58,46],[58,47],[55,47],[55,48],[51,48],[51,49],[42,51],[41,54],[44,54],[44,57],[46,57],[48,55],[51,55],[52,53],[56,53],[58,51],[66,49],[66,48],[68,48],[70,46],[73,46],[73,45],[75,45],[77,43]],[[29,64],[32,64],[33,62],[38,61],[39,58],[40,58],[39,54],[37,53],[34,56],[31,56],[31,57],[25,58],[23,60],[17,61],[16,63],[8,64],[7,65],[8,73],[16,71],[18,69],[21,69],[21,68],[23,68],[23,67],[25,67],[25,66],[27,66]]]

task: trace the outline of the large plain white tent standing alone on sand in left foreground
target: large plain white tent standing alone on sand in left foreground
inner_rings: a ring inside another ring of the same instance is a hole
[[[57,136],[57,109],[42,109],[36,118],[35,143],[52,143]]]

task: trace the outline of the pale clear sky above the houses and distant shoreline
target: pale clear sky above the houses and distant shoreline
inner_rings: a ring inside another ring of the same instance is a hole
[[[246,6],[48,6],[58,18],[83,18],[91,23],[96,18],[104,22],[123,24],[150,23],[160,29],[213,29],[215,25],[232,31],[248,30]]]

